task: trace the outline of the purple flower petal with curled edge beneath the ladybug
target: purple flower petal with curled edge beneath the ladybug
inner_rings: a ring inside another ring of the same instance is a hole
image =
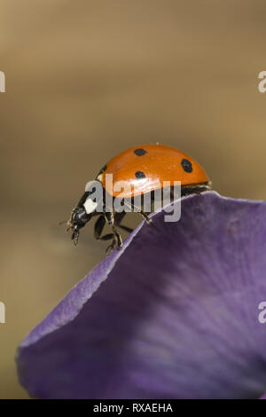
[[[184,198],[153,215],[20,343],[41,398],[258,398],[266,391],[266,203]]]

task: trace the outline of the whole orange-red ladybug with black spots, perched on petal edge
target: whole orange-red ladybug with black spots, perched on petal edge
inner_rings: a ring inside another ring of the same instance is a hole
[[[113,182],[107,181],[107,174],[112,174]],[[100,169],[95,179],[95,185],[103,188],[102,209],[98,210],[98,202],[92,199],[92,192],[85,191],[77,206],[72,210],[66,230],[72,230],[72,240],[76,245],[79,238],[80,229],[89,222],[92,216],[98,216],[94,226],[94,236],[97,240],[112,240],[112,244],[106,249],[109,253],[113,248],[121,248],[122,240],[118,228],[132,232],[132,229],[121,224],[126,212],[118,212],[113,207],[110,209],[106,203],[106,196],[119,198],[127,201],[130,209],[137,209],[139,214],[147,223],[152,219],[144,211],[143,206],[136,208],[133,198],[143,196],[145,193],[153,193],[164,181],[172,184],[175,181],[181,182],[181,196],[191,193],[201,193],[211,188],[211,183],[206,172],[198,162],[171,146],[164,145],[143,145],[134,146],[126,151],[114,156]],[[121,188],[117,185],[129,185]],[[114,191],[115,190],[115,191]],[[117,191],[119,190],[119,191]],[[105,193],[106,192],[106,193]],[[110,199],[109,199],[110,201]],[[128,210],[129,211],[129,210]],[[102,236],[106,224],[112,228],[112,232]]]

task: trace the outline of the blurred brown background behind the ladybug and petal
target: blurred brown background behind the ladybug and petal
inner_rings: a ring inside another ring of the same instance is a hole
[[[0,0],[0,397],[20,340],[105,256],[58,222],[129,146],[191,153],[222,194],[265,199],[265,1]]]

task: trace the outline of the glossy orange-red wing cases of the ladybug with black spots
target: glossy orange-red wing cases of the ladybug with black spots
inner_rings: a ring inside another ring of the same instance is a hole
[[[113,183],[106,180],[113,174]],[[107,162],[96,178],[113,197],[129,198],[152,192],[164,181],[174,185],[204,185],[209,180],[191,156],[165,145],[134,146]],[[121,181],[126,186],[121,187]]]

